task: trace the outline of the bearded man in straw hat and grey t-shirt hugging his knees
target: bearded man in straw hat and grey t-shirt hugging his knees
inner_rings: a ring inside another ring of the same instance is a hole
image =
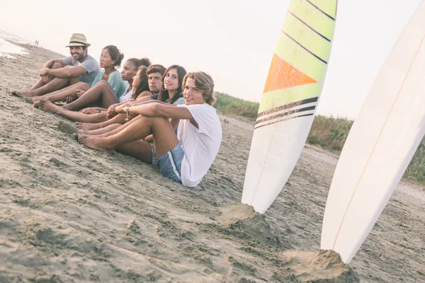
[[[40,79],[29,91],[13,91],[23,97],[42,96],[46,93],[71,86],[79,81],[91,85],[94,78],[101,72],[96,59],[87,54],[86,36],[74,33],[69,39],[69,57],[52,59],[40,69]]]

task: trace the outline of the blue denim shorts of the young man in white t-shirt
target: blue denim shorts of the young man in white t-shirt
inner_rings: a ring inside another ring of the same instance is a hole
[[[181,170],[181,161],[183,161],[184,152],[181,148],[181,144],[176,145],[174,149],[162,154],[162,156],[157,157],[155,153],[154,144],[151,143],[152,151],[152,164],[158,166],[159,172],[166,177],[171,178],[179,183],[181,183],[180,170]]]

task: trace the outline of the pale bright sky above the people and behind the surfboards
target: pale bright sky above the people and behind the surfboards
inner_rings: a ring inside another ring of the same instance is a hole
[[[206,71],[215,91],[261,100],[289,0],[1,1],[0,30],[67,55],[84,33],[98,59],[106,45],[154,64]],[[6,3],[5,3],[6,2]],[[421,0],[340,0],[317,113],[355,119]]]

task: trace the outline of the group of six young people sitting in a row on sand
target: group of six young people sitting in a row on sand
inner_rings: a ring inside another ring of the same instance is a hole
[[[33,88],[13,93],[77,122],[60,127],[91,149],[133,156],[167,178],[198,185],[222,139],[211,76],[179,65],[164,68],[147,57],[128,59],[119,72],[123,54],[117,47],[103,48],[99,65],[87,54],[89,46],[74,33],[69,57],[50,60]]]

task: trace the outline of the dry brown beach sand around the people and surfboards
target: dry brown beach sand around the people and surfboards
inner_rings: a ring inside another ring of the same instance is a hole
[[[62,57],[24,47],[0,57],[0,282],[425,282],[420,187],[400,183],[349,268],[318,250],[337,156],[307,146],[256,214],[239,204],[252,125],[220,115],[220,152],[188,189],[78,144],[64,118],[8,94]]]

